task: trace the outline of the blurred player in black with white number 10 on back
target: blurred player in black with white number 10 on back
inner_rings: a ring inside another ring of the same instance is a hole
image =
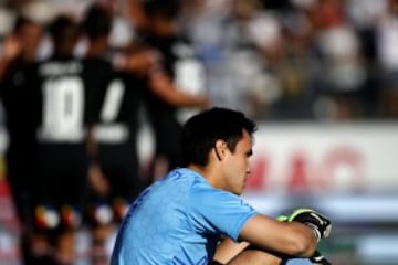
[[[72,264],[87,190],[87,135],[94,119],[93,91],[84,65],[73,56],[80,29],[59,15],[49,25],[52,54],[32,65],[27,86],[34,93],[30,114],[36,123],[33,254],[34,264]]]

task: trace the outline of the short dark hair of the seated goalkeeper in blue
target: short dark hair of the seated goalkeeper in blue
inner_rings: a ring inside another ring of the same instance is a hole
[[[206,166],[208,155],[219,139],[224,140],[231,152],[234,152],[243,129],[252,137],[256,125],[238,110],[213,107],[192,116],[182,129],[185,163]]]

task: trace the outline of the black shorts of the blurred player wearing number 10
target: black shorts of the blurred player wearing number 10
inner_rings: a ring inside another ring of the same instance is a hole
[[[36,148],[31,212],[35,230],[57,234],[82,224],[81,212],[87,202],[87,171],[88,157],[83,144]],[[50,212],[56,218],[49,219]]]

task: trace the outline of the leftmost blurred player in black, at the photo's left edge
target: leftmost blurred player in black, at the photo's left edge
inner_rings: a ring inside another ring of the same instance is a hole
[[[38,22],[19,15],[12,32],[7,35],[0,59],[0,97],[6,113],[9,146],[6,152],[7,180],[21,224],[22,258],[30,264],[29,240],[32,208],[31,186],[34,181],[34,124],[32,91],[24,86],[25,68],[36,61],[43,28]],[[23,108],[23,109],[22,109]]]

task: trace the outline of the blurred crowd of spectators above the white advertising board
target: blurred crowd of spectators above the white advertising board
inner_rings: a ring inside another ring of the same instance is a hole
[[[397,117],[397,1],[187,1],[209,92],[259,119]]]

